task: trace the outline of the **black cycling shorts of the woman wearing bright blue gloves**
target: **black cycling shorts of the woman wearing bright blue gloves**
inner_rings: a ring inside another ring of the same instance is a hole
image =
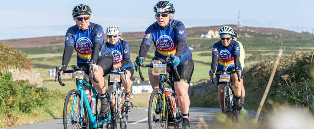
[[[160,62],[166,62],[164,59],[162,59],[159,56],[155,56],[151,61],[159,60]],[[167,72],[170,74],[170,76],[174,77],[174,81],[180,81],[187,84],[190,84],[192,74],[194,71],[194,62],[193,59],[180,62],[180,64],[177,66],[177,71],[180,76],[180,79],[177,79],[172,72],[172,66],[167,66]]]

